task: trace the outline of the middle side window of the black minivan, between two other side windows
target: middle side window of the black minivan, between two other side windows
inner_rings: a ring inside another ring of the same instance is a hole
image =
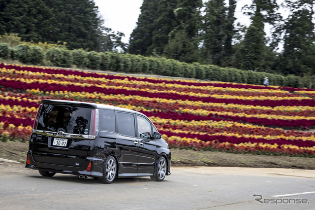
[[[117,112],[118,133],[135,137],[135,126],[133,114]]]

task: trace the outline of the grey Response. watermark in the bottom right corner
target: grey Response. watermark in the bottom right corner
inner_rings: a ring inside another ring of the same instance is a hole
[[[307,198],[263,198],[262,195],[253,194],[255,201],[260,204],[310,204]]]

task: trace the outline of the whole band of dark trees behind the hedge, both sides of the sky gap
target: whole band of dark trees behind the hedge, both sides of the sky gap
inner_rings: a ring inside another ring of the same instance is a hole
[[[0,35],[14,33],[35,43],[66,42],[68,49],[118,50],[186,63],[295,74],[312,82],[315,0],[284,0],[281,5],[278,0],[252,0],[243,7],[251,20],[249,27],[236,23],[236,4],[237,0],[143,0],[127,45],[123,33],[104,27],[94,0],[1,0]],[[290,11],[286,19],[280,8]],[[272,26],[270,36],[265,34],[266,24]]]

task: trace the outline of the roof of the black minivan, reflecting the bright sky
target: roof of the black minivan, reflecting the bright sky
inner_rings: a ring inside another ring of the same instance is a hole
[[[44,100],[41,100],[41,103],[51,104],[51,105],[75,105],[75,106],[81,106],[81,107],[87,107],[87,108],[105,108],[105,109],[113,109],[117,111],[126,111],[126,112],[136,113],[136,114],[145,116],[141,112],[131,110],[128,108],[122,108],[122,107],[113,106],[113,105],[96,104],[96,103],[90,103],[90,102],[44,99]]]

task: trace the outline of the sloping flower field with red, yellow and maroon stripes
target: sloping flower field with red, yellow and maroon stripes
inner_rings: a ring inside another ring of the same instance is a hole
[[[146,114],[170,147],[315,157],[315,90],[0,63],[0,140],[27,141],[42,99]]]

